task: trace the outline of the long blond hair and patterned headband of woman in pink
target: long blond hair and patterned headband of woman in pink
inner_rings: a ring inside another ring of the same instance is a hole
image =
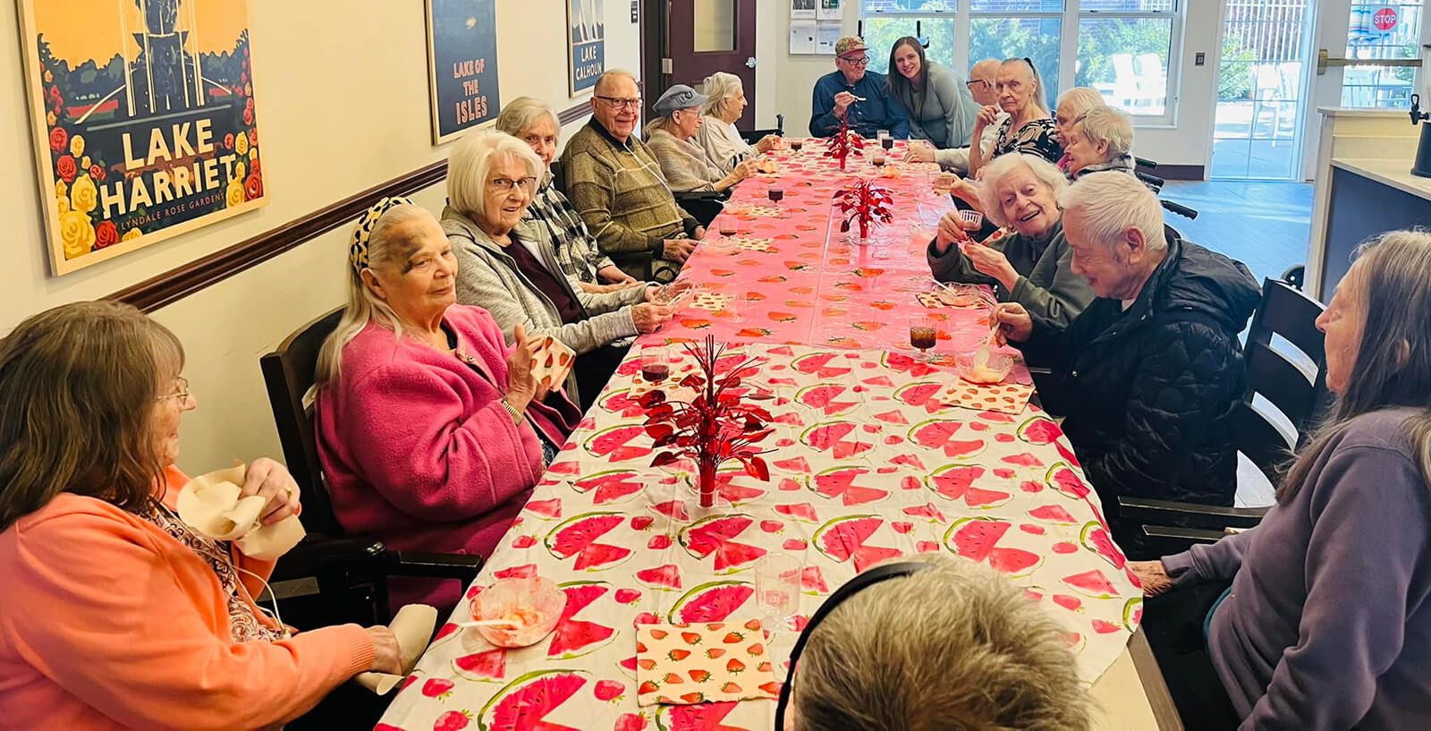
[[[408,243],[408,237],[399,236],[399,227],[422,217],[432,219],[432,215],[426,209],[405,203],[385,210],[368,236],[368,269],[376,272],[406,259],[408,247],[404,245]],[[318,368],[313,373],[313,383],[318,386],[338,382],[343,348],[369,323],[385,325],[392,329],[395,338],[402,338],[398,313],[362,280],[362,272],[353,269],[348,256],[343,256],[343,269],[348,270],[348,305],[338,320],[338,328],[323,340],[323,348],[318,352]]]

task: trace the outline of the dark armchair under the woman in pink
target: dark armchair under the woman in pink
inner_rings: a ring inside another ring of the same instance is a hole
[[[333,614],[352,614],[353,605],[365,605],[373,621],[386,622],[391,617],[388,577],[456,579],[467,585],[477,578],[482,558],[389,551],[372,536],[348,535],[333,515],[318,459],[312,389],[318,352],[341,318],[342,308],[335,309],[259,358],[283,458],[303,502],[299,519],[308,531],[303,542],[279,559],[273,579],[315,578]]]

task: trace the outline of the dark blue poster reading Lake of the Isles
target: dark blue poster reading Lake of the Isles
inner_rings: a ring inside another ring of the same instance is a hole
[[[497,87],[497,0],[426,0],[432,144],[501,112]]]

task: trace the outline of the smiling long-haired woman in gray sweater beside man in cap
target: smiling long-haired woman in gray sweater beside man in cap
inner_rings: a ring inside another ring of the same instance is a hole
[[[919,40],[894,41],[886,83],[909,114],[909,139],[929,140],[940,150],[969,146],[979,104],[963,79],[924,57]]]

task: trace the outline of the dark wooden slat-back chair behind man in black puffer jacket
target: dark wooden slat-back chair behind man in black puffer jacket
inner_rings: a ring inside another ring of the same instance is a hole
[[[1281,482],[1295,449],[1302,446],[1331,401],[1322,333],[1315,325],[1322,309],[1319,302],[1286,282],[1266,279],[1262,302],[1248,328],[1244,353],[1248,389],[1235,406],[1232,429],[1238,451],[1272,485]],[[1274,335],[1291,343],[1296,353],[1275,345]],[[1315,365],[1311,376],[1296,365],[1299,359]],[[1123,521],[1142,525],[1145,548],[1159,555],[1252,528],[1268,511],[1266,506],[1225,508],[1143,498],[1119,498],[1118,508]]]

